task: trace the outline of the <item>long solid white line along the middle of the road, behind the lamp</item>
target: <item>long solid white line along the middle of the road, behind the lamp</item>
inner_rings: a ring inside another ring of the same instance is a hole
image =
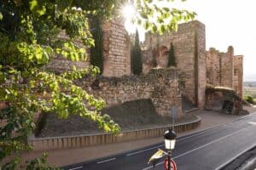
[[[200,147],[195,148],[194,150],[186,151],[186,152],[184,152],[183,154],[181,154],[181,155],[179,155],[179,156],[174,156],[174,157],[172,157],[172,159],[174,160],[174,159],[177,159],[178,157],[188,155],[189,153],[191,153],[191,152],[193,152],[193,151],[195,151],[195,150],[200,150],[201,148],[204,148],[204,147],[206,147],[207,145],[210,145],[210,144],[213,144],[213,143],[218,142],[219,140],[228,138],[228,137],[232,136],[233,134],[240,133],[241,131],[243,131],[243,130],[245,130],[245,129],[247,129],[247,127],[242,128],[242,129],[236,131],[235,133],[230,133],[229,135],[226,135],[226,136],[221,137],[221,138],[219,138],[219,139],[212,140],[212,142],[207,143],[207,144],[203,144],[203,145],[201,145]],[[164,163],[164,161],[161,161],[161,162],[157,163],[157,164],[155,165],[155,167],[157,167],[157,166],[159,166],[160,164],[163,164],[163,163]],[[152,167],[153,167],[153,166],[145,167],[145,168],[143,168],[143,170],[148,170],[148,169],[151,169]]]

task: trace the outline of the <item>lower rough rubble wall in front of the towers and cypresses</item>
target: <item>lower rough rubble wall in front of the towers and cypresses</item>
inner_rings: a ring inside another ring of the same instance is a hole
[[[176,69],[153,69],[144,76],[98,77],[93,83],[82,79],[77,83],[90,94],[107,101],[108,105],[119,105],[135,99],[152,99],[160,115],[170,116],[171,107],[176,105],[177,116],[182,116]]]

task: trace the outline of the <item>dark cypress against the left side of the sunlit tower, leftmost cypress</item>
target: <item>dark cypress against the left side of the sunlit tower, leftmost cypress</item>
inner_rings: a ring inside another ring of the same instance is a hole
[[[92,27],[91,34],[95,40],[95,46],[90,48],[90,65],[99,67],[101,74],[103,71],[103,40],[102,27],[99,17],[93,17],[90,25]]]

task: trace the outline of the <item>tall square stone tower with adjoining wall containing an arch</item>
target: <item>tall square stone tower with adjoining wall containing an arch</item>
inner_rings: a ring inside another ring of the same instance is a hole
[[[195,20],[178,26],[177,32],[165,33],[163,36],[147,34],[145,48],[155,55],[157,67],[166,68],[166,61],[171,42],[177,61],[177,72],[180,79],[180,88],[183,95],[199,107],[204,105],[206,87],[206,35],[205,26]],[[148,53],[143,58],[148,57]],[[149,55],[150,56],[150,55]],[[148,69],[152,58],[143,59]],[[149,64],[148,64],[149,63]],[[165,64],[165,65],[164,65]],[[151,67],[152,68],[152,67]],[[144,73],[148,69],[143,69]]]

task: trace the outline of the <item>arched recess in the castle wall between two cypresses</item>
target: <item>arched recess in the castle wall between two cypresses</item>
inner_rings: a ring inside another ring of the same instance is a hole
[[[158,68],[167,68],[169,49],[166,46],[161,46],[156,56],[156,64]]]

